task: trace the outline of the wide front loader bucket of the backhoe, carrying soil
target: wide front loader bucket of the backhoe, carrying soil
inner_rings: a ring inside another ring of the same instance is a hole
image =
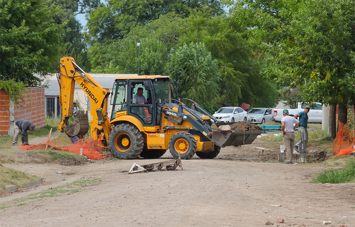
[[[221,125],[231,125],[233,123],[214,123],[212,127],[212,139],[220,147],[239,146],[251,144],[262,130],[233,131],[230,127],[219,127]]]

